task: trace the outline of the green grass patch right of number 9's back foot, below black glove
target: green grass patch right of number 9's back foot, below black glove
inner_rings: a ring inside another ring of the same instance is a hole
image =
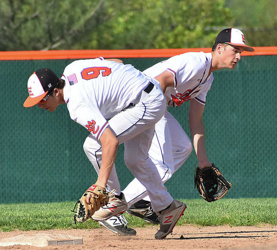
[[[254,226],[277,225],[277,199],[222,199],[208,203],[204,200],[187,200],[185,216],[179,225],[200,226]]]

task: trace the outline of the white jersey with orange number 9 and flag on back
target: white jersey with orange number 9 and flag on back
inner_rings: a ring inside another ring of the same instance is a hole
[[[128,107],[149,84],[150,78],[135,69],[103,58],[77,60],[64,69],[64,101],[70,118],[96,139],[107,120]]]

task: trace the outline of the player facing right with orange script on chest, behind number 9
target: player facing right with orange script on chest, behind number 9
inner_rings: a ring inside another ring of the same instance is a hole
[[[233,69],[241,59],[241,52],[244,50],[254,51],[253,48],[245,45],[245,37],[240,30],[228,28],[218,34],[211,53],[188,52],[176,55],[143,71],[160,82],[167,106],[178,107],[186,101],[190,102],[189,126],[201,169],[212,166],[205,149],[202,120],[206,95],[213,82],[212,72],[222,68]],[[155,124],[154,138],[148,152],[163,182],[166,182],[182,166],[191,151],[192,145],[188,135],[167,111]],[[147,196],[147,190],[139,180],[134,179],[130,182],[123,193],[129,207],[127,213],[151,223],[159,223],[159,218],[154,213]],[[123,230],[120,231],[123,227],[119,226],[120,220],[117,217],[101,220],[101,209],[97,214],[101,225],[124,234]]]

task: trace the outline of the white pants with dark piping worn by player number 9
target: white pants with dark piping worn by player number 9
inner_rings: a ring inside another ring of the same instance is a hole
[[[139,183],[146,188],[153,210],[157,212],[169,206],[173,201],[172,196],[163,185],[155,164],[148,156],[154,134],[154,125],[166,111],[166,101],[159,83],[155,82],[154,88],[149,93],[142,91],[134,104],[135,106],[129,106],[112,117],[108,121],[109,127],[116,135],[119,143],[124,143],[126,166]],[[100,141],[89,135],[83,148],[99,174],[102,160]],[[115,165],[107,182],[107,189],[116,189],[116,194],[120,194],[120,183]]]

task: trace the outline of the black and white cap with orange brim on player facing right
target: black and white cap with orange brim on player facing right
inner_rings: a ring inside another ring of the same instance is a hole
[[[216,36],[215,44],[216,43],[228,43],[234,46],[242,46],[246,51],[254,51],[252,47],[245,44],[244,34],[240,30],[235,28],[221,30]]]

